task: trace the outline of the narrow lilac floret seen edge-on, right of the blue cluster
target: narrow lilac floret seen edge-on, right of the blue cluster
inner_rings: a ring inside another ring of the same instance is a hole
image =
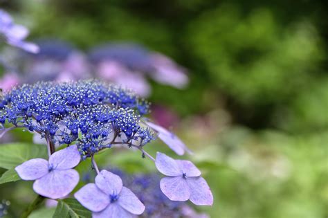
[[[183,143],[183,141],[178,138],[174,133],[168,131],[167,129],[158,126],[152,122],[145,122],[150,128],[154,129],[158,133],[158,138],[163,140],[163,142],[170,147],[176,154],[183,155],[185,152],[192,153],[190,149]]]

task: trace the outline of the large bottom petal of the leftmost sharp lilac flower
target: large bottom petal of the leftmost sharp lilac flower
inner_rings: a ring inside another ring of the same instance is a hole
[[[53,170],[33,184],[37,194],[51,199],[59,199],[69,194],[79,182],[76,170]]]

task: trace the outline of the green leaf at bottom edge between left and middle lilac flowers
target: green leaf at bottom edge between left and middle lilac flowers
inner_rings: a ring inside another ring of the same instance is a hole
[[[75,199],[59,200],[53,218],[89,218],[91,212]]]

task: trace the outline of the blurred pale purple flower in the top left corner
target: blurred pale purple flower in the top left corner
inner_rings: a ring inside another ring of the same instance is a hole
[[[24,42],[28,36],[28,29],[25,26],[14,24],[12,17],[4,10],[0,9],[0,34],[11,46],[22,48],[30,53],[37,53],[39,47],[30,42]]]

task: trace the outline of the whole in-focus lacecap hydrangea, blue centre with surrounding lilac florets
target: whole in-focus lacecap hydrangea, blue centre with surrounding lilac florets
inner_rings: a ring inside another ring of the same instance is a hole
[[[167,176],[161,179],[161,190],[169,199],[212,205],[212,192],[194,164],[159,152],[154,158],[145,151],[147,143],[160,138],[176,154],[190,152],[175,134],[147,120],[147,113],[149,104],[132,91],[95,80],[24,84],[1,96],[0,137],[22,128],[46,140],[48,160],[31,159],[15,170],[21,179],[35,180],[35,192],[51,199],[73,191],[80,177],[73,167],[91,158],[97,172],[95,183],[74,196],[93,217],[132,217],[145,210],[138,197],[122,185],[120,176],[100,171],[95,163],[95,154],[116,145],[134,147],[143,158],[154,161]],[[66,148],[56,152],[55,145]]]

